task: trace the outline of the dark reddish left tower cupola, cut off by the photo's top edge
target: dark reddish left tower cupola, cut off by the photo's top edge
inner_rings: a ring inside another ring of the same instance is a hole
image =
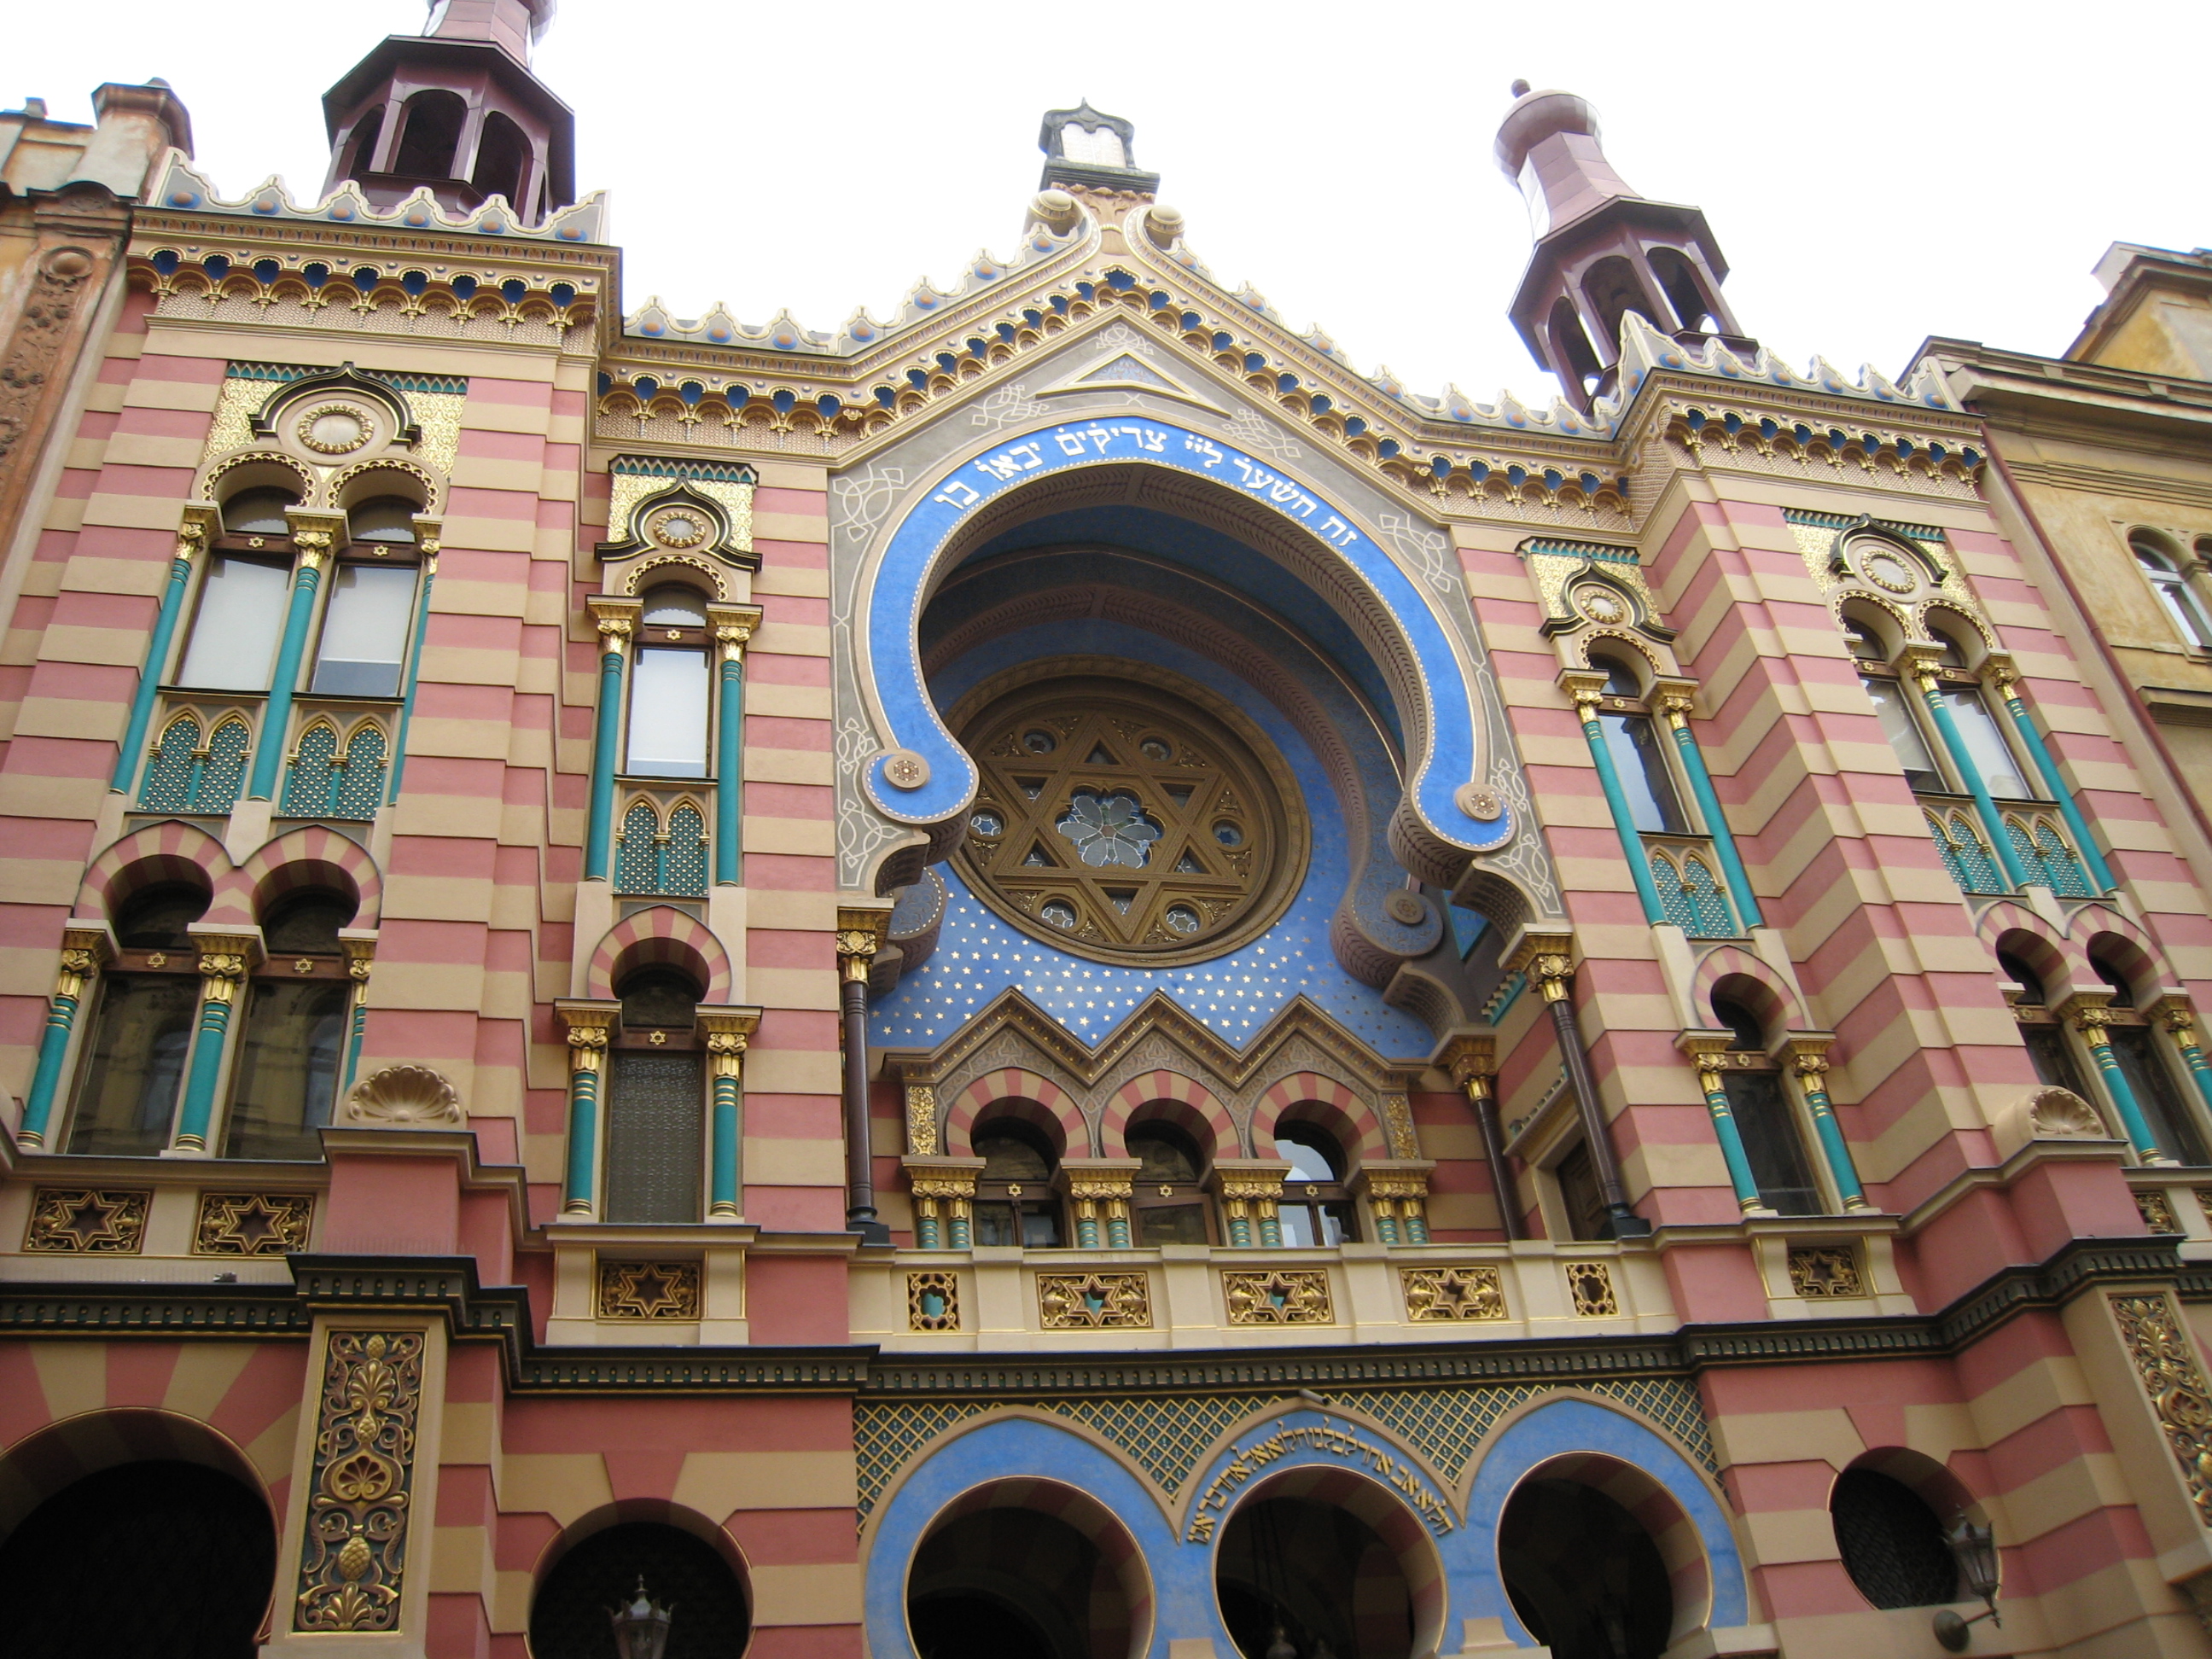
[[[389,35],[323,93],[325,190],[352,179],[378,208],[429,188],[453,212],[507,197],[535,226],[575,201],[575,115],[529,66],[553,0],[434,0],[420,35]]]

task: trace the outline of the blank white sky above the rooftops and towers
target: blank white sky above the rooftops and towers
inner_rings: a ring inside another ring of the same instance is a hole
[[[1632,186],[1705,208],[1736,316],[1798,365],[1898,374],[1929,334],[2057,354],[2108,243],[2212,243],[2201,0],[1765,11],[566,0],[535,66],[577,111],[577,186],[613,192],[626,310],[677,316],[719,299],[834,330],[1011,252],[1037,117],[1086,95],[1137,124],[1228,288],[1482,400],[1551,394],[1504,316],[1528,252],[1491,159],[1515,75],[1593,100]],[[11,31],[0,100],[91,119],[100,82],[164,75],[223,197],[270,173],[312,195],[321,91],[422,15],[46,7]]]

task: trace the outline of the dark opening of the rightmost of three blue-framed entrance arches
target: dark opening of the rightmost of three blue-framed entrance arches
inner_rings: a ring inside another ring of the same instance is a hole
[[[1537,1464],[1513,1489],[1498,1575],[1553,1659],[1659,1659],[1710,1599],[1690,1517],[1641,1469],[1599,1455]]]

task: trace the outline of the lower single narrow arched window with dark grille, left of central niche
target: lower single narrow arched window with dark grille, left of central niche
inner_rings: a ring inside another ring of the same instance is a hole
[[[622,987],[606,1079],[606,1219],[697,1221],[706,1179],[699,984],[644,967]]]

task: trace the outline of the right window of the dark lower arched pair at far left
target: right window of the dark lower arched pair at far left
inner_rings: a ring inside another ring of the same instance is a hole
[[[319,1159],[345,1060],[352,980],[338,929],[354,900],[327,887],[285,894],[261,922],[268,951],[246,991],[223,1157]]]

